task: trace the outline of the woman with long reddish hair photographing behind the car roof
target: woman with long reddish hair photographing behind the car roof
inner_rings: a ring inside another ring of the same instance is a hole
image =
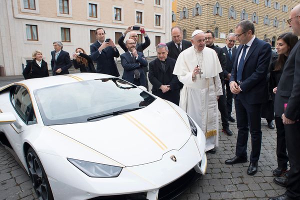
[[[80,72],[95,73],[96,70],[92,63],[91,57],[85,53],[83,48],[78,47],[75,51],[75,53],[72,53],[74,68],[79,68]]]

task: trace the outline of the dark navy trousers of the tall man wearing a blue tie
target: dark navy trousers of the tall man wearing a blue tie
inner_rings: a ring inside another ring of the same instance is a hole
[[[235,155],[247,156],[247,141],[250,130],[251,134],[251,154],[250,161],[257,162],[261,148],[261,126],[260,126],[260,106],[261,104],[248,104],[244,99],[234,99],[237,140]]]

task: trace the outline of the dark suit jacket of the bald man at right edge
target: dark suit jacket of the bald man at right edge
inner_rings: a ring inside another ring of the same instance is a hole
[[[284,110],[284,103],[287,103]],[[300,40],[291,49],[275,94],[275,114],[291,120],[300,118]]]

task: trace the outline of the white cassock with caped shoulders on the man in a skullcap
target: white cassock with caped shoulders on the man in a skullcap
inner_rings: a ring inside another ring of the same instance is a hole
[[[201,72],[192,81],[192,71],[199,66]],[[182,51],[174,67],[183,88],[179,106],[199,125],[206,136],[205,151],[218,146],[217,95],[222,95],[219,72],[222,71],[216,52],[208,47],[197,51],[194,46]]]

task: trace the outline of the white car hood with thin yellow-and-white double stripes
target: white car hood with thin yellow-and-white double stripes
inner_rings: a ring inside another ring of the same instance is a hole
[[[157,161],[165,152],[180,149],[190,137],[186,115],[181,116],[161,99],[145,108],[98,121],[48,127],[124,166]]]

